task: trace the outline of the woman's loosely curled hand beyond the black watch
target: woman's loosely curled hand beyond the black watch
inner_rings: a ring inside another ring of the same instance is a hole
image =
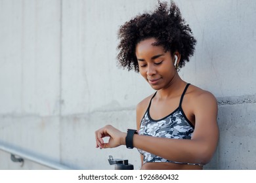
[[[105,143],[104,137],[110,137],[109,141]],[[126,133],[119,131],[112,125],[106,125],[95,131],[96,148],[116,148],[120,145],[125,145]]]

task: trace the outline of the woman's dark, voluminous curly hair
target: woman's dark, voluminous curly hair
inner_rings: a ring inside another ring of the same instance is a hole
[[[179,52],[181,60],[179,68],[189,61],[194,54],[196,39],[192,36],[192,31],[181,16],[177,5],[171,1],[168,9],[167,3],[160,3],[154,12],[139,14],[129,22],[121,25],[118,31],[120,42],[117,46],[119,54],[117,60],[119,65],[128,71],[134,69],[139,72],[139,65],[135,55],[136,45],[150,37],[154,37],[157,42],[155,46],[161,45],[165,51]]]

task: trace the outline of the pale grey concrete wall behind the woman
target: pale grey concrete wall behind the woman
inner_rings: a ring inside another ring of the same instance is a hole
[[[198,40],[181,77],[218,99],[219,146],[205,169],[256,169],[256,2],[176,1]],[[136,149],[95,148],[105,124],[135,128],[135,106],[154,92],[116,67],[117,29],[155,0],[0,0],[0,142],[72,169],[140,168]],[[0,169],[48,169],[13,163]]]

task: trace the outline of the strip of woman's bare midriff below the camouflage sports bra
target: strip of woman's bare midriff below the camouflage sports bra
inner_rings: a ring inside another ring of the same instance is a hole
[[[141,170],[202,170],[200,165],[181,165],[177,163],[144,163]]]

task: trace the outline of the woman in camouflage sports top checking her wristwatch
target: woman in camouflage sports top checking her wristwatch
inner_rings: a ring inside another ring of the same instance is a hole
[[[217,101],[179,76],[196,40],[175,3],[169,9],[159,4],[151,14],[121,26],[117,56],[121,66],[139,72],[156,93],[137,105],[137,131],[106,125],[95,131],[96,148],[138,148],[141,169],[202,169],[219,139]]]

